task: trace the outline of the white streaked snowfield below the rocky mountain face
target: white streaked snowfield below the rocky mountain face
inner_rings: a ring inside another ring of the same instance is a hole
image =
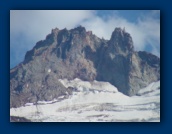
[[[126,96],[108,82],[59,79],[76,89],[67,99],[39,101],[11,108],[10,116],[33,122],[160,122],[160,81],[141,89],[138,96]],[[60,101],[59,101],[59,100]]]

